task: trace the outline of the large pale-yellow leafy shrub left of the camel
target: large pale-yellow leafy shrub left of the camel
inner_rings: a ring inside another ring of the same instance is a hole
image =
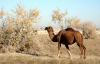
[[[34,45],[33,23],[38,23],[40,10],[33,8],[27,10],[21,4],[17,4],[14,14],[0,11],[0,52],[21,52],[29,50]],[[6,51],[7,50],[7,51]]]

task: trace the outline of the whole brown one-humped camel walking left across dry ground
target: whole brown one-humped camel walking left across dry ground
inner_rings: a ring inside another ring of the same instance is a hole
[[[83,49],[84,49],[84,59],[86,58],[85,56],[86,47],[83,45],[83,36],[79,31],[76,31],[72,28],[67,28],[67,29],[60,30],[60,32],[57,35],[55,35],[53,31],[53,27],[51,26],[45,27],[45,30],[48,31],[49,37],[53,42],[58,42],[58,56],[57,57],[59,57],[59,54],[60,54],[61,44],[64,44],[66,49],[68,50],[70,58],[72,58],[68,45],[71,45],[76,42],[81,51],[80,58],[82,58]]]

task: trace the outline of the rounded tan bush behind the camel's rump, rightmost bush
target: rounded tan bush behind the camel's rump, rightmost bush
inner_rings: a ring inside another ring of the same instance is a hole
[[[83,36],[88,39],[96,38],[96,26],[92,23],[92,21],[83,22]]]

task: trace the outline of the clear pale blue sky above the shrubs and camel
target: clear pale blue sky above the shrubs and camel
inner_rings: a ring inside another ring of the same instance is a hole
[[[81,22],[92,21],[98,28],[100,28],[100,0],[2,0],[0,1],[0,8],[4,7],[5,12],[11,12],[11,9],[17,3],[24,4],[27,9],[36,8],[41,11],[41,21],[38,25],[33,27],[53,26],[59,28],[57,24],[52,21],[53,10],[58,8],[61,12],[67,9],[67,18],[77,17]],[[51,24],[49,24],[51,22]]]

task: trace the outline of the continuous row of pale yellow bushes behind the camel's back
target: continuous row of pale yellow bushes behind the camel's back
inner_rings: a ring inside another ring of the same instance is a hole
[[[72,27],[83,30],[83,36],[85,38],[96,38],[96,26],[92,23],[92,21],[80,22],[80,19],[77,17],[74,18],[66,18],[68,14],[67,10],[65,13],[61,13],[60,9],[54,10],[52,14],[52,20],[56,23],[58,21],[58,25],[63,29],[63,22],[66,27]]]

